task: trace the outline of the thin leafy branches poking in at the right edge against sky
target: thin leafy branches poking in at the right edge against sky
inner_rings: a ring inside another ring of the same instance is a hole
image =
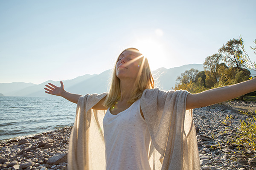
[[[243,50],[244,54],[242,54],[242,55],[236,54],[237,55],[236,57],[239,59],[239,61],[241,63],[244,63],[244,65],[246,65],[247,68],[251,68],[251,69],[256,71],[256,63],[255,63],[255,61],[254,62],[251,61],[249,55],[245,51],[244,41],[243,41],[241,35],[239,36],[239,41],[240,41],[240,44],[241,44],[241,49]],[[253,42],[256,45],[256,39]],[[250,48],[254,51],[254,54],[256,55],[256,46],[255,47],[250,46]]]

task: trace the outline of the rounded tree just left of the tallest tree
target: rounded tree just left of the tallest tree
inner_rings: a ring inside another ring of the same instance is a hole
[[[212,56],[206,57],[204,60],[204,70],[209,71],[212,74],[212,77],[215,79],[215,82],[218,81],[218,68],[220,68],[220,62],[223,59],[221,54],[213,54]]]

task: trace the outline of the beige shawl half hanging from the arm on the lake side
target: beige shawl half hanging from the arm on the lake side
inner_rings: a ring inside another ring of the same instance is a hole
[[[76,119],[70,135],[69,170],[105,170],[105,143],[102,120],[105,110],[93,110],[104,94],[81,96],[77,103]]]

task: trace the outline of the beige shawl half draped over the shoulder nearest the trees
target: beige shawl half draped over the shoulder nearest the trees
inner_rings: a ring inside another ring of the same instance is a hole
[[[147,89],[141,109],[160,153],[162,170],[199,170],[200,161],[192,110],[186,111],[187,91]]]

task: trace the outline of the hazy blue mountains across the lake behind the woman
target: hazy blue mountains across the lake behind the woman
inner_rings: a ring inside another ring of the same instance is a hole
[[[203,71],[203,64],[189,64],[175,68],[159,68],[152,71],[155,86],[163,90],[170,90],[175,86],[177,76],[186,70],[196,68]],[[64,88],[70,93],[76,94],[101,94],[108,91],[108,86],[111,78],[111,70],[102,72],[101,74],[86,74],[84,76],[76,77],[75,79],[65,80]],[[0,93],[4,96],[49,96],[44,93],[45,85],[48,83],[60,85],[59,81],[46,81],[39,85],[32,83],[0,83]]]

